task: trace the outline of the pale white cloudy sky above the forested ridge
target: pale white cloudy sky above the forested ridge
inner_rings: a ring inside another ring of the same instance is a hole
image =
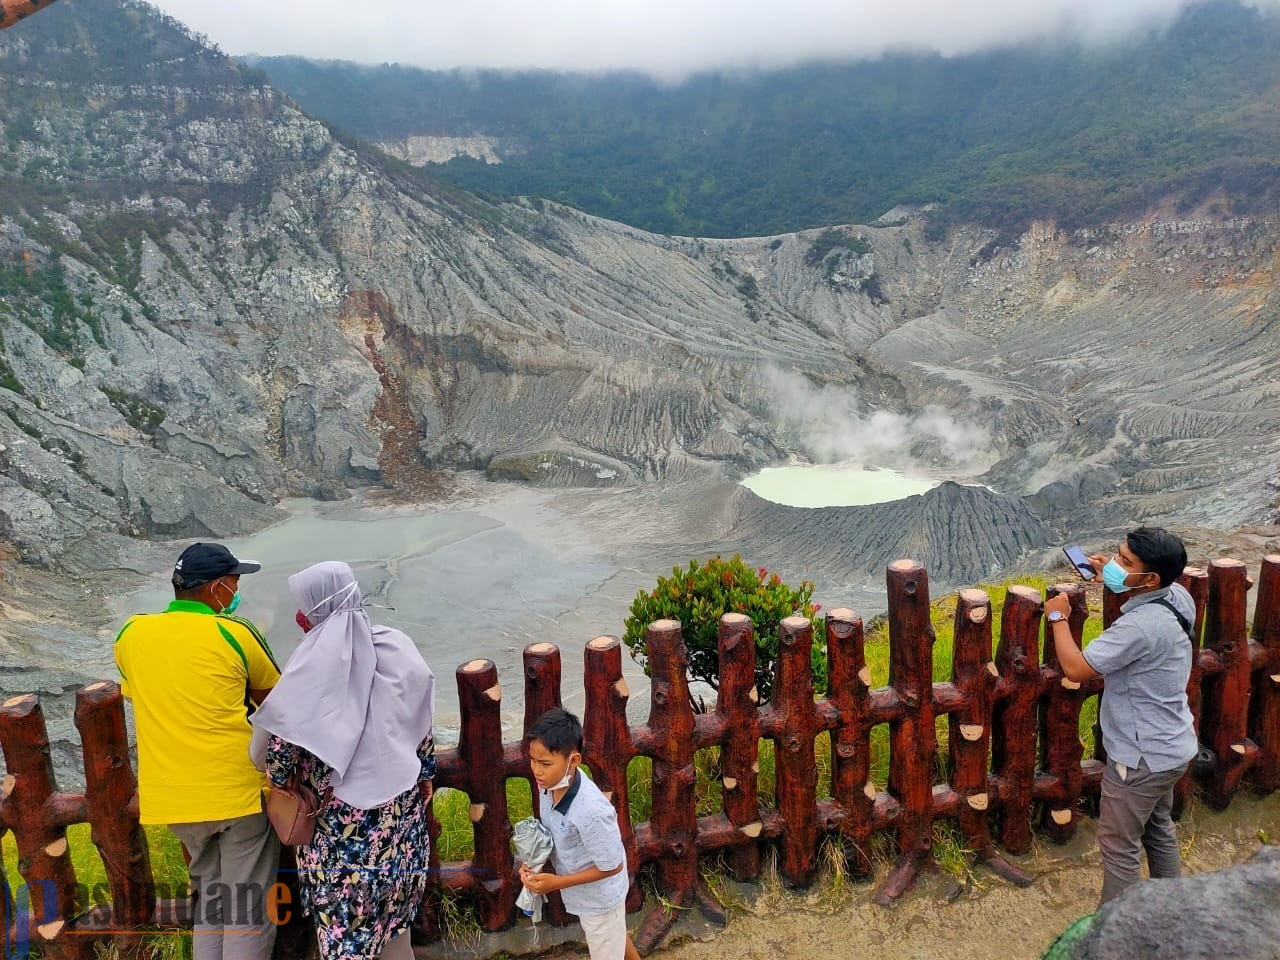
[[[229,54],[358,63],[636,69],[785,67],[893,49],[1101,44],[1160,28],[1192,0],[154,0]],[[1276,9],[1280,0],[1247,0]]]

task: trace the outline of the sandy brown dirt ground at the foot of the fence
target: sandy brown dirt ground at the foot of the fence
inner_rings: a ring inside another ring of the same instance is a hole
[[[1280,795],[1242,794],[1224,813],[1194,805],[1179,824],[1184,869],[1216,870],[1247,860],[1262,838],[1280,842]],[[682,920],[684,941],[659,950],[659,960],[1034,960],[1078,916],[1092,913],[1102,888],[1094,845],[1094,820],[1065,846],[1038,840],[1014,859],[1036,874],[1025,890],[978,868],[954,902],[942,899],[937,881],[923,881],[899,905],[883,909],[870,900],[870,886],[819,881],[812,891],[792,893],[776,883],[755,888],[754,902],[741,902],[728,927],[709,931]],[[751,887],[742,887],[751,896]],[[836,892],[833,892],[836,891]],[[630,918],[632,928],[639,915]],[[586,957],[563,946],[558,957]]]

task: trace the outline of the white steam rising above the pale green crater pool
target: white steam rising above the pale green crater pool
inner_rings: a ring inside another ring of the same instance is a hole
[[[914,413],[867,412],[849,388],[815,387],[772,369],[767,374],[773,415],[817,463],[855,461],[904,471],[982,472],[992,461],[991,431],[941,407]]]

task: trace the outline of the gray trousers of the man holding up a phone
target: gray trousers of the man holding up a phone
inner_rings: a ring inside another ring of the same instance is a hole
[[[1142,851],[1153,878],[1179,877],[1183,872],[1174,831],[1174,785],[1187,764],[1152,773],[1142,760],[1120,778],[1114,763],[1102,772],[1102,805],[1098,813],[1098,847],[1102,850],[1101,904],[1124,893],[1139,879]]]

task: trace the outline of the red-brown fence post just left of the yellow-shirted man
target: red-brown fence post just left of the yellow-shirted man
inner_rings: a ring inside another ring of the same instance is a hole
[[[76,728],[84,754],[90,836],[111,886],[111,920],[116,927],[148,924],[155,919],[156,890],[138,823],[138,783],[129,763],[120,687],[106,680],[81,687]]]

